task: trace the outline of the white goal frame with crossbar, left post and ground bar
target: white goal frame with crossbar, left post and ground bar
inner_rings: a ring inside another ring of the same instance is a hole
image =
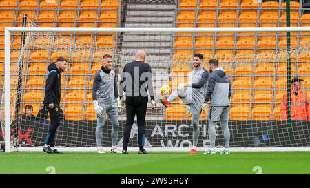
[[[5,34],[5,61],[4,61],[4,141],[5,152],[10,152],[10,34],[12,32],[310,32],[310,27],[258,27],[258,28],[40,28],[40,27],[6,27]],[[120,133],[121,134],[121,133]],[[61,148],[62,151],[94,151],[95,148],[79,149]],[[137,149],[137,148],[135,148]],[[186,149],[154,148],[151,151],[185,151]],[[20,148],[19,151],[41,151],[41,148]],[[187,151],[187,150],[186,150]],[[254,151],[310,151],[310,147],[236,147],[231,151],[254,152]]]

